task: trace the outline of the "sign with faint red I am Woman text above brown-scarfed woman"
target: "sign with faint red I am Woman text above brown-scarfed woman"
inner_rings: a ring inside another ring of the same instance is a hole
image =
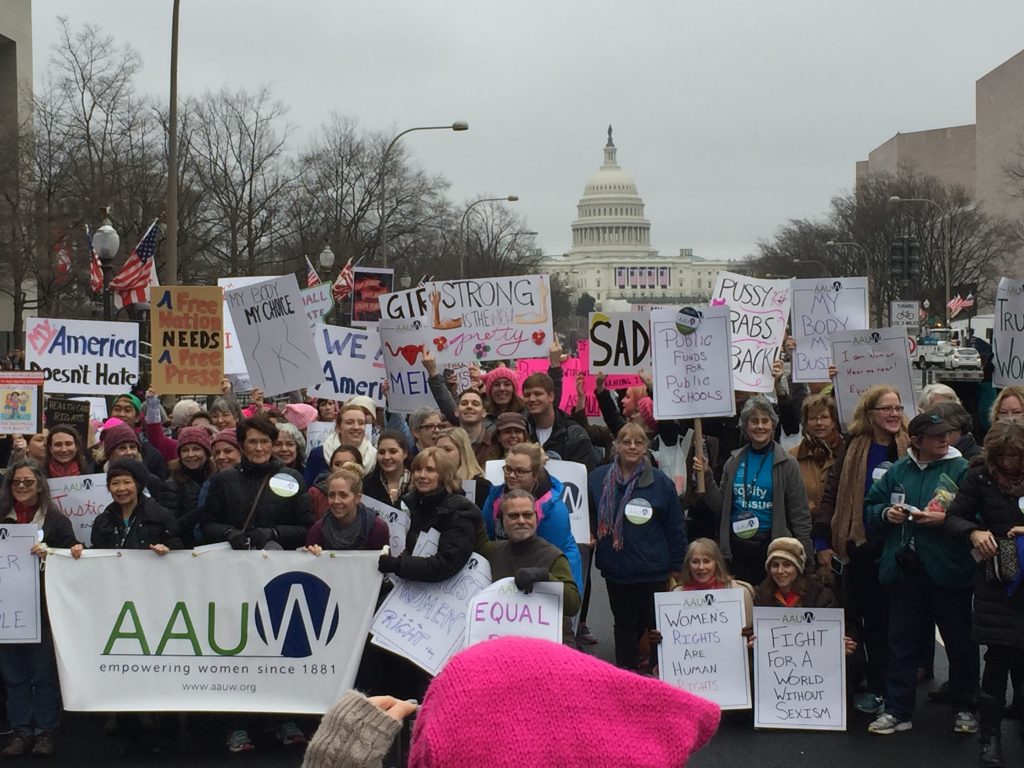
[[[836,403],[840,420],[849,424],[864,391],[874,384],[889,384],[899,391],[909,420],[916,415],[913,378],[907,353],[906,330],[879,328],[833,334],[836,360]]]

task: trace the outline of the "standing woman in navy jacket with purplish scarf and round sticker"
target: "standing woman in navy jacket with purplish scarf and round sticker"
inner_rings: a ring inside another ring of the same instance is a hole
[[[506,460],[507,461],[507,460]],[[686,532],[675,483],[647,458],[647,434],[628,423],[615,458],[588,479],[597,567],[608,587],[614,620],[615,666],[640,666],[640,637],[654,629],[654,593],[670,574],[683,578]]]

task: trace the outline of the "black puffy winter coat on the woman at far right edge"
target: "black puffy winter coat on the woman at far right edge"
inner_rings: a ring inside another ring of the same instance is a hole
[[[973,530],[1005,538],[1014,525],[1024,525],[1018,497],[999,490],[986,466],[970,467],[946,511],[946,532],[970,547]],[[978,565],[974,585],[975,642],[1024,649],[1024,588],[1008,597],[1006,584],[985,581],[984,563]]]

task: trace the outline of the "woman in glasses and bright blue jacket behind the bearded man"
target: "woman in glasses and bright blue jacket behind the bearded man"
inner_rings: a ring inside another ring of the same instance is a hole
[[[555,545],[569,561],[572,579],[583,593],[583,558],[572,537],[569,510],[562,501],[565,486],[544,468],[544,449],[537,442],[522,442],[509,449],[505,457],[505,482],[495,485],[483,503],[483,524],[488,539],[505,539],[501,522],[502,497],[506,490],[525,490],[537,500],[537,535]]]

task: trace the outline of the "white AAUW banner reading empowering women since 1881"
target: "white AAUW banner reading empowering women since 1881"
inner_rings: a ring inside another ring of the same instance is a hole
[[[65,708],[322,714],[355,680],[378,556],[48,557]]]

